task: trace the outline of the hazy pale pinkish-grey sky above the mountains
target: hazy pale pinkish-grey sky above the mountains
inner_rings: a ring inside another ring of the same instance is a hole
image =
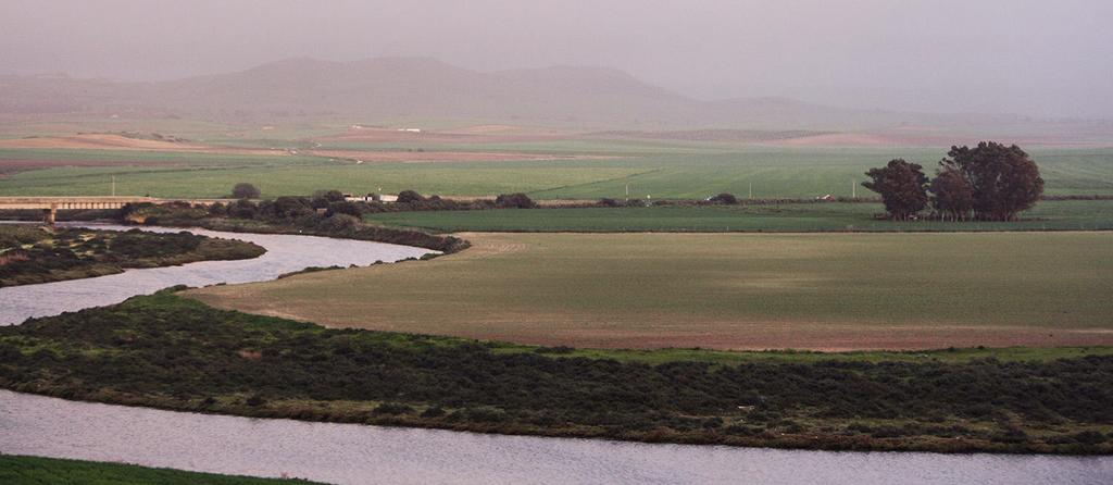
[[[1113,0],[0,0],[0,72],[608,66],[699,98],[1113,118]]]

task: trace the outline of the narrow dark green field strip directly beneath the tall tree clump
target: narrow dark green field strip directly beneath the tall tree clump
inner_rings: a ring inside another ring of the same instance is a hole
[[[374,224],[456,231],[995,231],[1110,230],[1113,200],[1043,201],[1012,222],[877,220],[880,204],[784,204],[705,207],[548,208],[368,214]]]

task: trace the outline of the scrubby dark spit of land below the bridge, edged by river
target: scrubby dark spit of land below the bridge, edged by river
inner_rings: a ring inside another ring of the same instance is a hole
[[[0,225],[0,287],[90,278],[127,268],[249,259],[264,253],[252,242],[188,232]]]

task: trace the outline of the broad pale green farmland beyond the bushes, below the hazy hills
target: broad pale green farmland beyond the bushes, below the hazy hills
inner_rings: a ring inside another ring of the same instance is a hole
[[[273,139],[230,140],[240,147],[276,146]],[[298,145],[302,141],[289,140]],[[755,198],[871,195],[858,184],[867,169],[892,158],[923,164],[928,172],[945,149],[779,148],[727,143],[565,140],[535,143],[421,145],[347,143],[326,149],[514,151],[603,155],[599,160],[366,164],[314,157],[127,152],[109,150],[0,150],[3,160],[114,160],[114,167],[53,167],[0,179],[0,196],[119,194],[217,197],[240,181],[265,197],[306,195],[335,188],[366,194],[406,189],[450,196],[525,191],[541,199],[705,198],[733,192]],[[1034,149],[1048,195],[1113,194],[1113,149]],[[417,156],[420,158],[420,156]],[[128,162],[155,166],[128,167]],[[201,170],[204,169],[204,170]],[[851,187],[856,187],[853,189]]]

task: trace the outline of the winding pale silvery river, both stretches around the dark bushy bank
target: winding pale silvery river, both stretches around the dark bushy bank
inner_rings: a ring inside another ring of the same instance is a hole
[[[308,236],[194,231],[249,240],[267,254],[3,288],[0,324],[110,305],[179,284],[260,281],[308,266],[368,265],[429,253]],[[288,474],[341,484],[1113,483],[1111,457],[835,453],[480,435],[176,413],[8,390],[0,390],[0,453]]]

